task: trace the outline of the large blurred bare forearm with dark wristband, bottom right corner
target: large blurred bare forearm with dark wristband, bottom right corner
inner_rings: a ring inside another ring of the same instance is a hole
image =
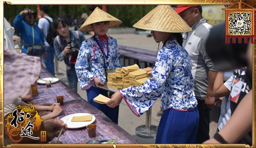
[[[219,135],[228,143],[236,143],[250,130],[252,130],[252,90],[244,96],[228,123],[219,131]],[[216,141],[214,138],[203,142],[203,144],[208,143],[220,142]]]

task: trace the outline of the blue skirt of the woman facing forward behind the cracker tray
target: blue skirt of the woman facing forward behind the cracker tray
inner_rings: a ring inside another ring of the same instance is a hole
[[[108,116],[109,119],[111,119],[113,122],[118,124],[118,113],[119,113],[119,107],[110,108],[105,104],[99,104],[97,102],[94,102],[94,98],[97,97],[99,94],[102,94],[104,96],[108,96],[108,92],[105,90],[102,90],[100,88],[92,86],[90,89],[87,90],[87,100],[88,102],[96,107],[97,109],[101,110],[106,116]]]

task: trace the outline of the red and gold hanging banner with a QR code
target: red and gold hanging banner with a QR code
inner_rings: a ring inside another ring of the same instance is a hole
[[[242,4],[243,8],[241,8]],[[248,38],[251,43],[255,43],[254,15],[256,9],[240,0],[222,10],[225,11],[225,43],[229,43],[229,38],[232,38],[233,43],[236,43],[236,38],[238,38],[238,43],[242,42],[242,38],[245,43],[248,43]]]

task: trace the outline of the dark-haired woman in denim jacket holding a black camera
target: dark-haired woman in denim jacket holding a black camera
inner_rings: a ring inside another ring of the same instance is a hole
[[[66,64],[68,86],[77,92],[77,76],[74,65],[78,55],[78,50],[85,37],[81,31],[69,30],[67,19],[57,17],[54,19],[54,29],[59,34],[54,38],[54,50],[59,61],[64,60]]]

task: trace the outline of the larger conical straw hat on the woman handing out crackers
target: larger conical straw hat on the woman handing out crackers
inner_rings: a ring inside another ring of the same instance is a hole
[[[192,29],[169,5],[159,5],[148,12],[135,25],[135,28],[161,32],[188,32]]]

